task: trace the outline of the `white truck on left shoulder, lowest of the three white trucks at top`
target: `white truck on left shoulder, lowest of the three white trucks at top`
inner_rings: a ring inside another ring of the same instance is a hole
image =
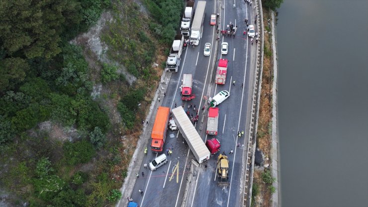
[[[166,61],[166,70],[170,72],[178,72],[180,66],[180,56],[183,51],[184,36],[177,34],[174,37],[173,45],[170,49],[168,60]]]

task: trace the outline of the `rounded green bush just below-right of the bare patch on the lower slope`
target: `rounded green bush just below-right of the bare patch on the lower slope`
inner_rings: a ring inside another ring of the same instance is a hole
[[[93,145],[87,140],[64,143],[64,157],[69,165],[86,163],[95,155]]]

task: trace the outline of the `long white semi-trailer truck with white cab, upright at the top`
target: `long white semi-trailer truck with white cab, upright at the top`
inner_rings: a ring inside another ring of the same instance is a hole
[[[202,37],[203,21],[206,14],[206,1],[198,1],[193,23],[191,24],[190,42],[198,45]]]

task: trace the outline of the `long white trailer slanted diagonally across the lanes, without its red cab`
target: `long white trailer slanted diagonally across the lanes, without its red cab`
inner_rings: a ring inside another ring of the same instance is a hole
[[[194,157],[198,163],[202,163],[209,159],[210,152],[200,138],[198,132],[195,130],[189,117],[186,115],[182,106],[171,110],[174,120],[178,125],[180,132],[182,133],[186,143],[189,145],[190,150],[193,152]]]

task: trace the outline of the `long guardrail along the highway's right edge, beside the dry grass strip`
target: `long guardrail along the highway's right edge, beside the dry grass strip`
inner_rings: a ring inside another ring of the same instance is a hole
[[[256,73],[253,99],[252,99],[252,116],[251,126],[249,130],[249,140],[247,146],[247,160],[246,160],[246,171],[244,179],[243,189],[243,207],[250,207],[252,203],[252,186],[253,186],[253,174],[254,174],[254,155],[256,151],[257,142],[257,127],[258,127],[258,115],[259,115],[259,103],[262,88],[262,71],[263,71],[263,55],[264,55],[264,25],[263,25],[263,13],[262,13],[262,2],[261,0],[255,0],[257,19],[257,31],[258,37],[261,41],[257,43],[257,60],[256,60]],[[252,7],[251,7],[252,9]],[[251,19],[252,21],[252,19]]]

